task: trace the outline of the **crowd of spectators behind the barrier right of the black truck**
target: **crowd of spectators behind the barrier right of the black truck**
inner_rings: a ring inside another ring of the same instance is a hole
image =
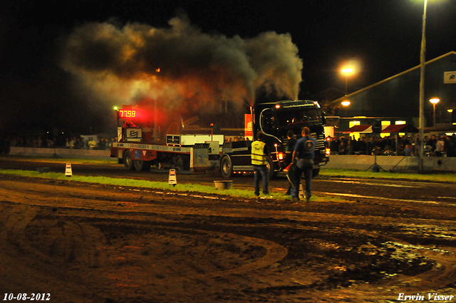
[[[430,135],[424,137],[425,155],[430,156],[456,156],[456,134],[448,136]],[[390,135],[379,137],[362,137],[356,139],[355,136],[341,136],[326,138],[332,155],[418,155],[420,140],[418,134],[415,136]]]

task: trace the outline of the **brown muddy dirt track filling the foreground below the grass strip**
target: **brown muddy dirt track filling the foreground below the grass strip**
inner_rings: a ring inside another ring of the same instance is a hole
[[[0,291],[75,303],[455,295],[450,198],[296,204],[0,175]]]

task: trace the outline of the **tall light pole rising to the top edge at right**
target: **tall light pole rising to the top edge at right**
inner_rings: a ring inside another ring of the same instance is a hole
[[[423,172],[423,150],[425,147],[424,141],[424,128],[425,128],[425,51],[426,51],[426,7],[427,7],[427,0],[425,0],[425,9],[423,12],[423,31],[421,36],[421,76],[420,76],[420,153],[418,157],[418,170],[420,173]]]

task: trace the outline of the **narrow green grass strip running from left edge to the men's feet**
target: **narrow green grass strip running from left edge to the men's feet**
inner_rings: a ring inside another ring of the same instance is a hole
[[[217,190],[214,187],[206,185],[196,185],[196,184],[177,184],[175,186],[169,185],[166,182],[156,182],[149,180],[135,180],[135,179],[123,179],[123,178],[108,178],[100,176],[78,176],[73,175],[72,177],[66,177],[64,173],[38,173],[33,170],[3,170],[0,169],[1,174],[5,175],[21,175],[29,178],[46,178],[46,179],[56,179],[56,180],[70,180],[76,182],[85,182],[85,183],[98,183],[106,185],[118,185],[118,186],[131,186],[136,188],[154,188],[157,190],[172,190],[176,192],[201,192],[207,194],[218,194],[218,195],[229,195],[232,197],[239,198],[254,198],[254,192],[252,190]],[[277,200],[289,200],[289,197],[284,195],[281,192],[271,192],[271,196]],[[331,201],[331,202],[341,202],[338,197],[318,197],[316,195],[312,196],[312,200],[316,202]]]

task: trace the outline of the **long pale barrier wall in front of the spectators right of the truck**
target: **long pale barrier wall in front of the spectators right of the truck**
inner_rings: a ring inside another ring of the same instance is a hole
[[[418,172],[418,157],[398,155],[330,155],[328,164],[321,169],[338,168],[345,170],[368,170],[374,163],[384,170],[415,170]],[[456,173],[456,158],[454,157],[425,157],[423,170],[427,172],[442,171]]]

